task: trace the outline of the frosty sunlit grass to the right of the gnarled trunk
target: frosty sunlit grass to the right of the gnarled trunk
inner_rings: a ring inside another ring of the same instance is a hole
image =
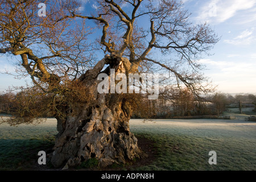
[[[256,122],[222,119],[130,122],[137,136],[154,140],[158,156],[139,170],[256,170]],[[210,165],[216,151],[217,165]]]

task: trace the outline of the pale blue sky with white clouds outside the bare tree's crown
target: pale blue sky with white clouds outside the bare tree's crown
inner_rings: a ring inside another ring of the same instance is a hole
[[[85,1],[84,10],[96,8]],[[158,1],[158,0],[155,0]],[[199,60],[206,65],[205,75],[225,93],[256,93],[256,0],[184,0],[184,9],[192,15],[193,23],[208,22],[221,37],[211,53]],[[15,63],[14,57],[8,58]],[[5,56],[0,57],[0,72],[15,68]],[[29,80],[27,78],[27,80]],[[9,86],[25,85],[24,79],[0,74],[0,92]]]

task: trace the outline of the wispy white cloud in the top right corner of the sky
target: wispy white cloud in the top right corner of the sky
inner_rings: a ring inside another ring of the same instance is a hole
[[[201,8],[197,20],[222,23],[235,16],[240,10],[253,8],[255,4],[255,0],[211,0]]]

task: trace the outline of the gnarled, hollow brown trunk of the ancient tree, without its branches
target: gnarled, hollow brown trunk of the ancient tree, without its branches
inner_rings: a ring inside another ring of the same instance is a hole
[[[101,167],[126,163],[141,156],[137,138],[129,130],[131,104],[124,94],[97,92],[97,76],[105,64],[115,73],[132,72],[136,65],[123,57],[106,56],[81,77],[88,86],[92,101],[70,106],[66,119],[57,119],[59,134],[51,158],[53,166],[68,163],[77,166],[90,158],[98,159]],[[108,68],[105,72],[108,72]]]

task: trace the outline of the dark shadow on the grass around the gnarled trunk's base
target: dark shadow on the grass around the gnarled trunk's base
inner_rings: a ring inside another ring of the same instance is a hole
[[[147,154],[147,158],[139,159],[126,165],[113,165],[106,170],[131,170],[141,166],[147,166],[155,160],[156,150],[154,141],[149,138],[139,136],[139,147]],[[54,146],[53,140],[42,139],[0,139],[0,171],[44,171],[60,170],[53,168],[48,162],[47,165],[38,164],[38,152],[45,151],[46,154],[52,152]],[[48,160],[48,158],[47,158]],[[74,170],[99,170],[94,166],[86,165]],[[72,170],[68,169],[68,170]]]

